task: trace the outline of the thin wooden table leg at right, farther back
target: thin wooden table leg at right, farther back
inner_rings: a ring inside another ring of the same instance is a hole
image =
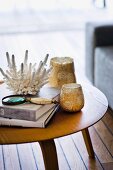
[[[89,156],[94,158],[94,150],[93,150],[93,146],[92,146],[88,128],[82,130],[82,135],[83,135]]]

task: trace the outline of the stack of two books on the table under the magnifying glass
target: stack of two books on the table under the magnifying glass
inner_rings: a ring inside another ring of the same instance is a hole
[[[51,98],[58,101],[59,91]],[[37,105],[26,102],[13,106],[0,104],[0,125],[44,128],[58,109],[59,104],[54,103]]]

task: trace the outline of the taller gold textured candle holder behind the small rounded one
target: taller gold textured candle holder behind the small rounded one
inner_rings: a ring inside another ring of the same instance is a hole
[[[54,57],[50,61],[52,71],[49,84],[52,87],[62,87],[63,84],[76,83],[74,61],[70,57]]]

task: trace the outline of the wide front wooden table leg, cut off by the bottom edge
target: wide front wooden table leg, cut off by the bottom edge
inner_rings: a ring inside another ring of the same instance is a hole
[[[54,140],[40,141],[39,144],[43,154],[45,169],[58,170],[57,152]]]

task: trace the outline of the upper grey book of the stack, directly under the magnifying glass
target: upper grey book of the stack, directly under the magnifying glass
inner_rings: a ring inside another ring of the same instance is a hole
[[[59,99],[59,90],[53,88],[42,88],[39,93],[41,97],[49,97],[55,100]],[[52,108],[54,108],[55,104],[47,104],[47,105],[37,105],[32,103],[24,103],[20,105],[3,105],[0,104],[0,117],[3,118],[11,118],[11,119],[21,119],[28,121],[37,121],[41,118],[46,112],[51,112]]]

